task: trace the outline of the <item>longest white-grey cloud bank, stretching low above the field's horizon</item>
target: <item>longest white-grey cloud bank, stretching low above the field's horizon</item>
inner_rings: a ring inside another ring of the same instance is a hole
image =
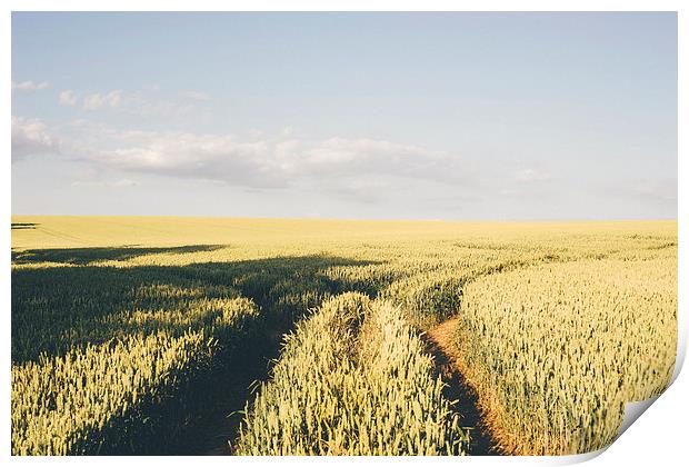
[[[71,125],[70,131],[79,136],[64,140],[72,159],[126,173],[256,189],[301,187],[365,201],[376,200],[388,186],[406,186],[413,179],[463,182],[457,157],[385,140],[122,131],[83,120]],[[408,181],[390,181],[395,178]]]

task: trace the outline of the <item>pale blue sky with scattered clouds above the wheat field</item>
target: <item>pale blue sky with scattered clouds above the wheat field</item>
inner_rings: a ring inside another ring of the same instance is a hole
[[[677,16],[12,13],[12,213],[677,218]]]

